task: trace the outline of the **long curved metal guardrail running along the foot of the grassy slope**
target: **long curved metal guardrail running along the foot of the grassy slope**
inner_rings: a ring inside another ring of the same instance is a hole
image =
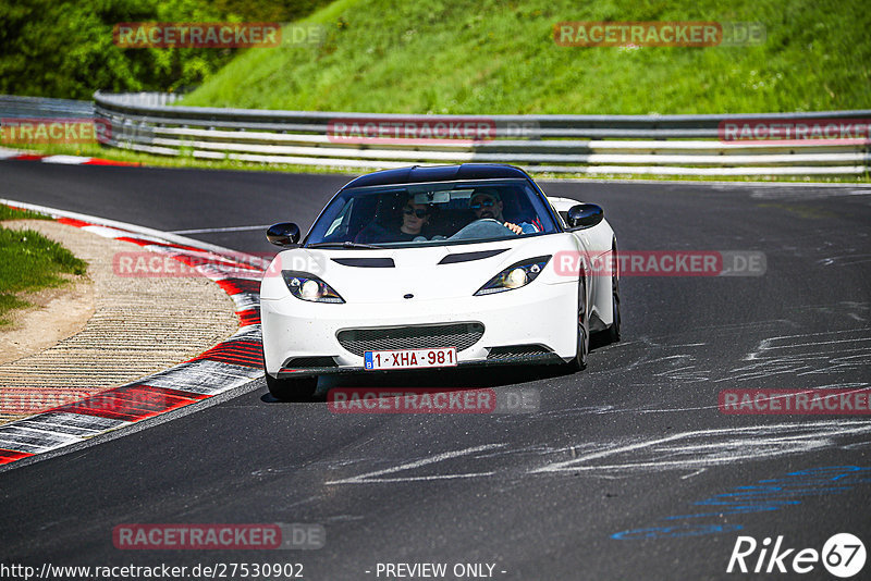
[[[111,147],[162,156],[352,169],[412,163],[502,162],[580,174],[866,174],[871,140],[721,141],[722,122],[871,119],[871,110],[743,115],[402,115],[169,107],[163,94],[95,95]],[[331,122],[477,119],[492,124],[479,141],[407,138],[349,143]]]

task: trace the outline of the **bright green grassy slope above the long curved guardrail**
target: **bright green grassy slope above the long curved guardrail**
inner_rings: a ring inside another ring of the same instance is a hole
[[[317,46],[250,49],[183,104],[397,113],[871,108],[861,0],[339,0]],[[745,47],[562,47],[563,21],[761,22]]]

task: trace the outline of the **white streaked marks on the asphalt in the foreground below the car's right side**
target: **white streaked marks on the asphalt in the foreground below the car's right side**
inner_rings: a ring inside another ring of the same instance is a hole
[[[560,449],[540,447],[533,455],[528,449],[512,450],[506,444],[492,443],[405,459],[324,484],[396,484],[469,478],[505,481],[580,474],[629,478],[667,471],[696,475],[707,468],[843,447],[848,440],[868,434],[871,423],[867,421],[827,420],[695,430],[625,442],[579,442]],[[493,452],[499,454],[482,454]],[[469,471],[464,463],[462,471],[453,471],[449,460],[459,457],[474,458],[476,470]],[[355,466],[359,469],[358,465]],[[437,470],[434,465],[439,465]]]

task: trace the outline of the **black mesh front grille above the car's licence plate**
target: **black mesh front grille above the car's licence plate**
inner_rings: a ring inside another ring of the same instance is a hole
[[[348,351],[363,357],[365,351],[392,349],[430,349],[456,347],[468,349],[483,335],[481,323],[449,323],[421,326],[346,329],[339,332],[339,343]]]

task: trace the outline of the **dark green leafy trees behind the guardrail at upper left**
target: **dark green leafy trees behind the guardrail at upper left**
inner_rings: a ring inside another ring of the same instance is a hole
[[[236,49],[121,48],[125,22],[290,22],[329,0],[0,0],[0,94],[90,99],[197,85]]]

